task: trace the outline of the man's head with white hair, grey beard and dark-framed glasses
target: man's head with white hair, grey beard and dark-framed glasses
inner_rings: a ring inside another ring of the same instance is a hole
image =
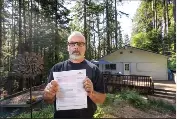
[[[85,50],[85,37],[81,32],[72,32],[72,34],[68,37],[68,52],[70,59],[83,59],[85,57]]]

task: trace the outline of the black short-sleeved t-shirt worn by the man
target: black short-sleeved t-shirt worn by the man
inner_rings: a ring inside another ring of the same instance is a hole
[[[92,64],[88,60],[84,60],[81,63],[72,63],[70,60],[66,60],[54,65],[50,71],[48,83],[53,80],[53,72],[79,69],[86,69],[86,76],[92,81],[96,92],[105,93],[105,83],[100,70],[95,64]],[[88,108],[85,109],[56,111],[56,102],[54,102],[54,118],[92,118],[97,109],[96,104],[89,96],[87,96],[87,104]]]

